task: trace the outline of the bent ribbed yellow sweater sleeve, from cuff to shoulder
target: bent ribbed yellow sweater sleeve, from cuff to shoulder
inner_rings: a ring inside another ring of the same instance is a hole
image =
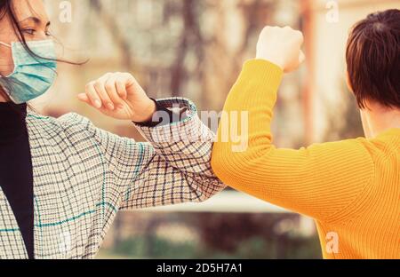
[[[276,148],[271,121],[282,76],[282,70],[266,60],[245,63],[224,107],[212,169],[228,186],[285,209],[321,220],[347,217],[372,182],[368,141]],[[233,115],[244,112],[249,119],[248,146],[237,152],[236,143],[223,138],[223,130],[233,123]]]

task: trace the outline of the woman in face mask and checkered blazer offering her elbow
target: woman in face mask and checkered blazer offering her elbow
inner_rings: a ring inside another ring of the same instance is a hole
[[[91,258],[118,210],[202,202],[224,188],[196,107],[148,99],[132,75],[104,75],[78,97],[132,120],[151,145],[80,115],[36,114],[27,102],[48,90],[56,68],[44,4],[2,1],[0,15],[0,258]],[[151,119],[169,120],[172,106],[186,117],[155,127]]]

